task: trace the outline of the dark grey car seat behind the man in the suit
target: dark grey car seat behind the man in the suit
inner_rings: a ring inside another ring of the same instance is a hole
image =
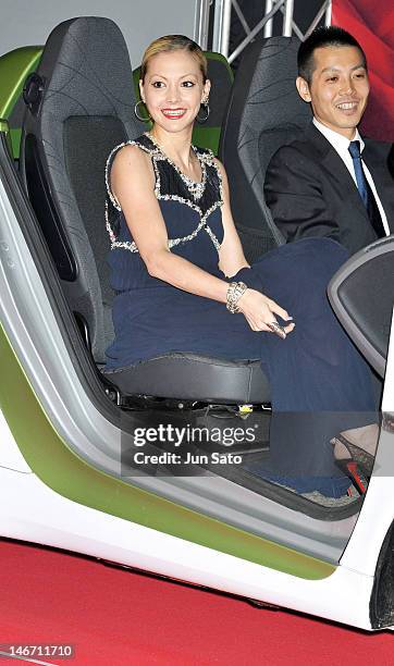
[[[234,221],[248,261],[281,245],[264,200],[264,177],[273,153],[311,120],[296,90],[296,37],[256,39],[237,70],[224,119],[219,157],[231,186]]]

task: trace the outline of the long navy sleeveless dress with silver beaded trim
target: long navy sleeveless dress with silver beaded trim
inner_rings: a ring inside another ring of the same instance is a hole
[[[202,173],[201,182],[195,183],[149,135],[128,144],[152,160],[155,195],[171,251],[226,280],[218,268],[223,240],[222,183],[213,155],[194,148]],[[170,351],[260,359],[272,393],[270,459],[251,471],[298,492],[319,490],[341,496],[348,479],[334,465],[330,439],[375,421],[369,368],[327,298],[327,285],[346,260],[346,250],[328,238],[308,238],[283,245],[250,269],[238,271],[231,281],[243,281],[273,298],[296,323],[285,341],[255,332],[243,314],[232,314],[224,304],[149,275],[109,183],[113,159],[124,145],[112,150],[106,171],[108,260],[116,293],[112,310],[115,338],[107,349],[107,369]]]

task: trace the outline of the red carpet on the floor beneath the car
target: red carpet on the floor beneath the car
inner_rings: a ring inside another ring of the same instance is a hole
[[[0,643],[74,643],[63,666],[394,663],[391,632],[255,608],[96,560],[0,540]],[[24,664],[0,658],[0,664]]]

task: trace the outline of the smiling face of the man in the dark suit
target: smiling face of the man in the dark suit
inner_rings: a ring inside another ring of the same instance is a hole
[[[298,76],[300,97],[311,103],[315,118],[353,139],[369,95],[368,73],[357,47],[322,47],[313,51],[311,83]]]

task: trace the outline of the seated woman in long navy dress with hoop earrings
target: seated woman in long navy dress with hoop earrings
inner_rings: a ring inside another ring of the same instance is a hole
[[[107,367],[171,351],[260,359],[273,417],[270,459],[253,471],[299,493],[340,497],[349,480],[335,458],[354,457],[370,471],[378,436],[369,368],[325,294],[345,250],[310,238],[250,267],[223,165],[192,145],[195,120],[209,113],[201,49],[178,35],[157,39],[139,83],[152,128],[116,146],[107,165],[116,291]]]

